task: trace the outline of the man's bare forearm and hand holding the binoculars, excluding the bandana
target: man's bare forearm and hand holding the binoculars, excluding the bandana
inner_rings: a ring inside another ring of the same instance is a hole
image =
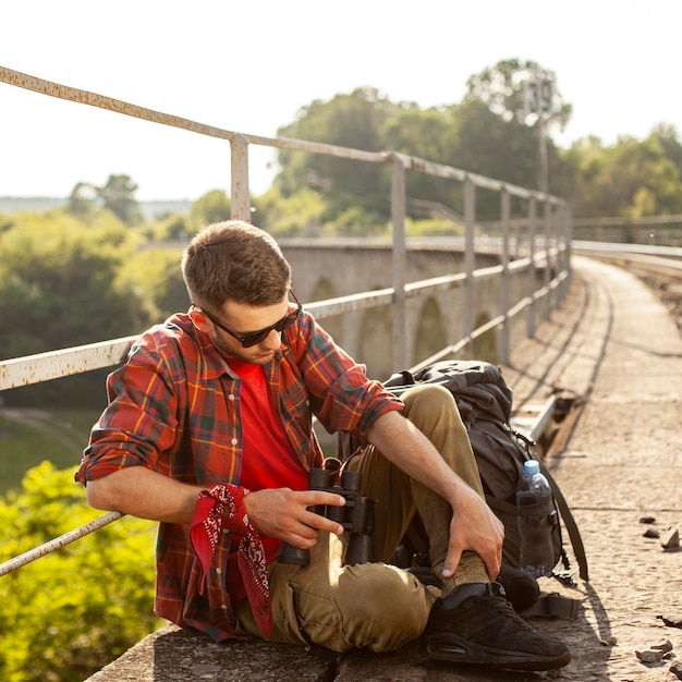
[[[146,466],[129,466],[88,480],[87,501],[95,509],[119,511],[141,519],[190,524],[200,486],[180,483]],[[318,531],[340,535],[343,526],[307,510],[308,507],[345,504],[345,499],[322,490],[276,488],[249,492],[244,498],[248,516],[261,534],[309,549]]]

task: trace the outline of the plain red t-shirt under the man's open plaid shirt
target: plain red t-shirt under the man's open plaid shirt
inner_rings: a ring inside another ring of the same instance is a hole
[[[240,485],[249,490],[291,488],[306,490],[308,473],[301,466],[272,403],[261,365],[228,360],[230,369],[241,379],[240,413],[242,421],[242,468]],[[261,536],[268,564],[275,561],[280,540]],[[241,537],[233,538],[227,568],[227,588],[233,601],[246,596],[236,563]]]

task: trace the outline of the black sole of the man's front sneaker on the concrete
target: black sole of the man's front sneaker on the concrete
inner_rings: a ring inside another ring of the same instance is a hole
[[[452,634],[444,637],[431,635],[424,644],[424,653],[434,660],[444,660],[452,663],[470,663],[478,666],[495,666],[509,670],[557,670],[568,666],[571,653],[564,651],[560,656],[547,657],[533,654],[503,651],[489,647],[472,647],[471,642],[460,640],[453,642]]]

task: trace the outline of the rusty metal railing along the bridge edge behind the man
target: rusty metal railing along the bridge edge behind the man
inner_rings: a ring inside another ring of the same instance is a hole
[[[248,190],[248,147],[261,145],[280,149],[297,149],[337,158],[355,159],[369,163],[388,163],[391,167],[391,220],[392,220],[392,287],[379,291],[360,292],[353,295],[306,304],[318,319],[365,310],[376,306],[391,305],[393,309],[393,366],[407,366],[406,358],[406,301],[434,292],[463,289],[463,334],[436,355],[424,358],[417,367],[436,360],[453,356],[480,336],[499,331],[499,360],[509,361],[511,320],[526,312],[526,333],[535,333],[536,318],[549,319],[552,307],[563,300],[570,281],[571,216],[565,203],[552,195],[538,193],[510,183],[492,180],[467,171],[435,163],[397,151],[370,153],[322,143],[288,138],[268,138],[217,129],[179,117],[145,109],[135,105],[44,81],[0,66],[0,82],[15,85],[42,95],[59,97],[74,102],[108,109],[162,125],[184,129],[197,134],[228,139],[231,147],[231,206],[232,217],[249,221],[251,195]],[[425,173],[463,185],[464,194],[464,268],[462,272],[427,279],[405,281],[405,173]],[[496,192],[500,200],[500,218],[495,224],[496,249],[500,263],[494,267],[475,268],[476,191]],[[525,202],[527,212],[512,220],[512,197]],[[541,207],[541,211],[540,211]],[[541,212],[541,216],[540,216]],[[512,234],[513,232],[513,234]],[[512,254],[513,245],[513,254]],[[525,295],[510,301],[509,279],[520,272],[527,276]],[[539,277],[539,281],[538,281]],[[500,282],[500,314],[485,325],[474,328],[475,288],[477,282],[498,278]],[[555,295],[552,295],[555,294]],[[543,302],[541,308],[538,303]],[[39,353],[0,362],[0,391],[58,379],[120,364],[135,337],[126,337],[82,345],[73,349]],[[417,368],[415,367],[415,368]],[[3,575],[25,565],[48,551],[114,521],[121,514],[112,512],[100,520],[83,526],[66,536],[36,548],[0,565]]]

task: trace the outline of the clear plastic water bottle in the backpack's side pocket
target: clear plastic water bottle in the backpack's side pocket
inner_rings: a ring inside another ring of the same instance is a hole
[[[536,460],[526,460],[523,464],[516,504],[537,512],[519,516],[521,568],[535,579],[551,575],[556,563],[551,532],[558,521],[557,511],[551,503],[549,483]]]

